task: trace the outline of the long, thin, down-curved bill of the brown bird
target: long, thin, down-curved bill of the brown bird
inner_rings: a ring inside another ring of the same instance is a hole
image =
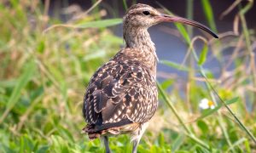
[[[194,20],[187,20],[182,17],[171,16],[171,15],[167,15],[167,14],[161,14],[160,16],[158,16],[158,18],[159,18],[160,22],[179,22],[179,23],[195,26],[195,27],[200,28],[203,31],[207,31],[208,33],[210,33],[212,35],[212,37],[218,38],[218,35],[215,34],[213,31],[211,31],[207,26],[204,26],[201,23],[196,22]]]

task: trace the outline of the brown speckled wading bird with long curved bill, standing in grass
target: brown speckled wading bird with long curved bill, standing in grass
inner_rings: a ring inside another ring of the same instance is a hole
[[[91,77],[84,94],[83,116],[87,125],[82,133],[89,139],[103,140],[107,153],[108,137],[128,133],[131,135],[132,152],[143,136],[148,122],[158,107],[156,65],[158,58],[148,28],[161,22],[179,22],[217,34],[194,20],[161,14],[143,3],[128,8],[123,18],[121,48]]]

